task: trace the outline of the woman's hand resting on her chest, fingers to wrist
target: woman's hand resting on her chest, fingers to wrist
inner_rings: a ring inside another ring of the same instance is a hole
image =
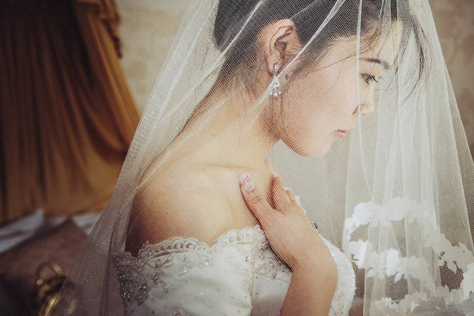
[[[317,268],[337,276],[336,264],[329,249],[291,190],[284,190],[279,176],[273,177],[271,182],[271,198],[275,208],[261,195],[260,190],[255,188],[247,173],[240,176],[240,190],[273,251],[293,271],[314,272]]]

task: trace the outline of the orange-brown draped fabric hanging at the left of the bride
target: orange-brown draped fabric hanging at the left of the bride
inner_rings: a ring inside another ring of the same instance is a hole
[[[0,225],[107,204],[139,114],[111,0],[6,1],[0,10]]]

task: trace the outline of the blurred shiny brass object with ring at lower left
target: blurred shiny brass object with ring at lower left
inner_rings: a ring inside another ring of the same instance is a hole
[[[54,271],[55,275],[50,278],[43,279],[41,277],[41,272],[46,267]],[[63,284],[65,279],[66,276],[64,276],[61,267],[52,261],[46,261],[37,268],[36,284],[38,288],[35,302],[35,311],[37,312],[36,315],[51,315],[51,309],[58,297],[59,289],[61,288],[61,285]]]

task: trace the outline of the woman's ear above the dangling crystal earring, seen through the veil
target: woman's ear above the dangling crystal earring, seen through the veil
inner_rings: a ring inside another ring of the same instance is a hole
[[[302,48],[295,24],[290,19],[265,26],[259,33],[258,42],[270,74],[273,74],[275,64],[280,65],[281,69]]]

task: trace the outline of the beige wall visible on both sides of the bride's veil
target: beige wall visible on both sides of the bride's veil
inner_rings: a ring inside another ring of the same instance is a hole
[[[116,0],[122,65],[140,111],[189,0]],[[474,1],[430,0],[458,108],[474,153]]]

